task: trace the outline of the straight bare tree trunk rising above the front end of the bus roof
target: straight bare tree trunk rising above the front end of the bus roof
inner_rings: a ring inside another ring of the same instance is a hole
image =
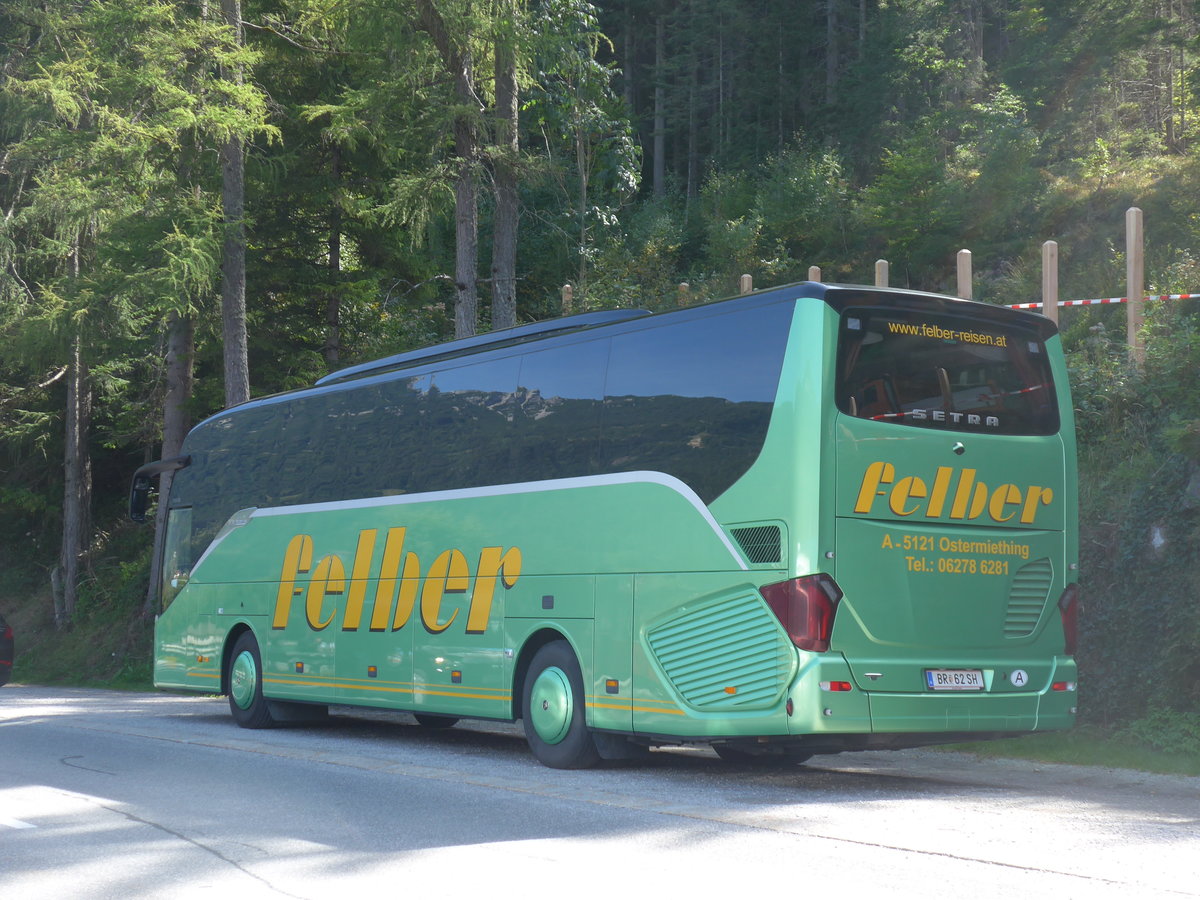
[[[241,0],[221,0],[221,12],[242,43]],[[242,72],[224,77],[238,84]],[[246,160],[240,138],[221,148],[221,205],[224,251],[221,263],[221,324],[224,337],[226,406],[250,400],[250,355],[246,346]]]

